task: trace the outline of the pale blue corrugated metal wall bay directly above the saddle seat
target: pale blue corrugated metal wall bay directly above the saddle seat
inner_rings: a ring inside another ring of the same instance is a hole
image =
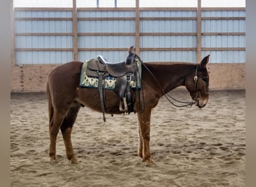
[[[122,61],[127,55],[124,49],[134,46],[134,11],[79,10],[77,17],[79,61],[97,55],[104,55],[109,61]]]

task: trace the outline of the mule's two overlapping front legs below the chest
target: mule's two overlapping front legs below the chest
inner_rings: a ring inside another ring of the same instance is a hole
[[[150,114],[151,110],[144,110],[138,112],[138,155],[142,157],[143,162],[147,162],[147,165],[152,165],[153,161],[150,158]]]

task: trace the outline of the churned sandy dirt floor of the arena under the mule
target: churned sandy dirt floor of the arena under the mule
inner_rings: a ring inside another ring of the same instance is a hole
[[[190,101],[186,91],[172,91]],[[175,108],[164,97],[151,117],[155,165],[137,156],[136,114],[106,115],[81,108],[73,127],[79,161],[65,155],[61,133],[57,159],[48,156],[45,93],[12,93],[11,186],[246,186],[246,91],[210,91],[204,108]]]

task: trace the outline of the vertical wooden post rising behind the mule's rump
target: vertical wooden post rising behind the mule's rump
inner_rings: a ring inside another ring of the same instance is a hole
[[[78,61],[78,36],[77,36],[77,8],[76,8],[76,0],[73,0],[73,60]]]

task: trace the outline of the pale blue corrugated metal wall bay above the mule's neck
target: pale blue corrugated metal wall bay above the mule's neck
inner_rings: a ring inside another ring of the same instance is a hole
[[[197,59],[196,51],[184,49],[196,49],[196,16],[196,11],[191,10],[141,11],[140,28],[143,36],[140,38],[140,47],[147,48],[147,50],[141,51],[141,58],[144,61],[195,62]],[[186,17],[195,19],[186,20]],[[158,35],[154,36],[149,33],[158,33]],[[194,35],[185,35],[186,33]],[[180,48],[180,50],[151,50],[155,48]]]

